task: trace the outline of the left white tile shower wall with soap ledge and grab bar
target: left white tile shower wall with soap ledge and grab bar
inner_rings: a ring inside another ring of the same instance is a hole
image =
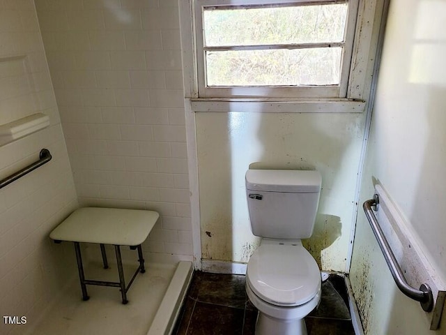
[[[53,156],[0,190],[0,334],[8,334],[21,326],[5,325],[4,315],[35,322],[75,276],[72,248],[48,235],[77,207],[77,195],[32,0],[0,1],[0,45],[0,124],[36,112],[50,118],[43,131],[0,147],[0,179],[44,147]]]

